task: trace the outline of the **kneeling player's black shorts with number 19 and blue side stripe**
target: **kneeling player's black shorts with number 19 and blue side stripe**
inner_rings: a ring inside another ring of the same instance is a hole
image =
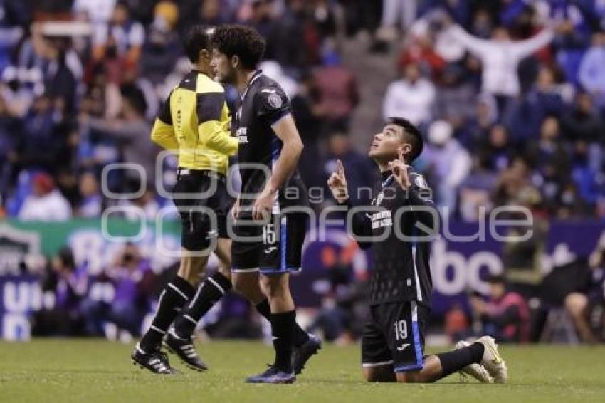
[[[362,333],[362,366],[421,370],[430,310],[414,301],[371,305]]]

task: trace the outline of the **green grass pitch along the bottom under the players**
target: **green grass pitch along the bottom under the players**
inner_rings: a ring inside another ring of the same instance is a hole
[[[245,384],[272,350],[260,342],[199,346],[211,370],[161,376],[134,367],[132,345],[101,340],[0,342],[0,402],[605,402],[605,347],[501,347],[509,382],[363,382],[359,347],[325,345],[292,385]]]

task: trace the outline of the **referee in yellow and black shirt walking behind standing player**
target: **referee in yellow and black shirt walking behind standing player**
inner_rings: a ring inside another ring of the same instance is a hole
[[[209,45],[209,33],[204,27],[194,26],[187,33],[184,46],[194,69],[173,88],[151,134],[153,142],[178,154],[173,197],[182,222],[179,271],[162,291],[152,325],[131,355],[136,364],[156,373],[174,373],[160,350],[162,338],[181,308],[188,303],[183,309],[186,313],[194,308],[196,300],[200,300],[201,293],[196,293],[196,286],[213,251],[211,246],[216,246],[214,252],[221,261],[220,271],[226,271],[228,276],[231,266],[226,215],[233,199],[226,189],[225,174],[228,156],[237,152],[238,140],[229,133],[230,117],[224,89],[210,78]],[[209,196],[204,197],[204,193]],[[213,210],[216,220],[211,219],[205,209]],[[216,237],[216,243],[212,242]],[[230,287],[227,278],[224,288]],[[179,357],[187,358],[190,367],[207,369],[195,352],[191,337],[181,340],[171,333],[167,342]]]

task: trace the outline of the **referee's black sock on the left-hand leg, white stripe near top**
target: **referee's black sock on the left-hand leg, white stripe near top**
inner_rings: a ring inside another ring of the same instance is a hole
[[[194,295],[194,292],[195,288],[184,278],[179,276],[172,278],[172,281],[162,291],[162,295],[159,296],[157,312],[152,325],[141,339],[140,347],[142,350],[149,352],[149,350],[155,350],[159,347],[168,327],[177,317],[183,305]]]

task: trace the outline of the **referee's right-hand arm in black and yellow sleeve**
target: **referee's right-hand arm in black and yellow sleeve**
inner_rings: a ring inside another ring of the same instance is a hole
[[[228,130],[229,112],[224,93],[197,95],[198,135],[201,145],[221,154],[233,155],[238,140]]]

